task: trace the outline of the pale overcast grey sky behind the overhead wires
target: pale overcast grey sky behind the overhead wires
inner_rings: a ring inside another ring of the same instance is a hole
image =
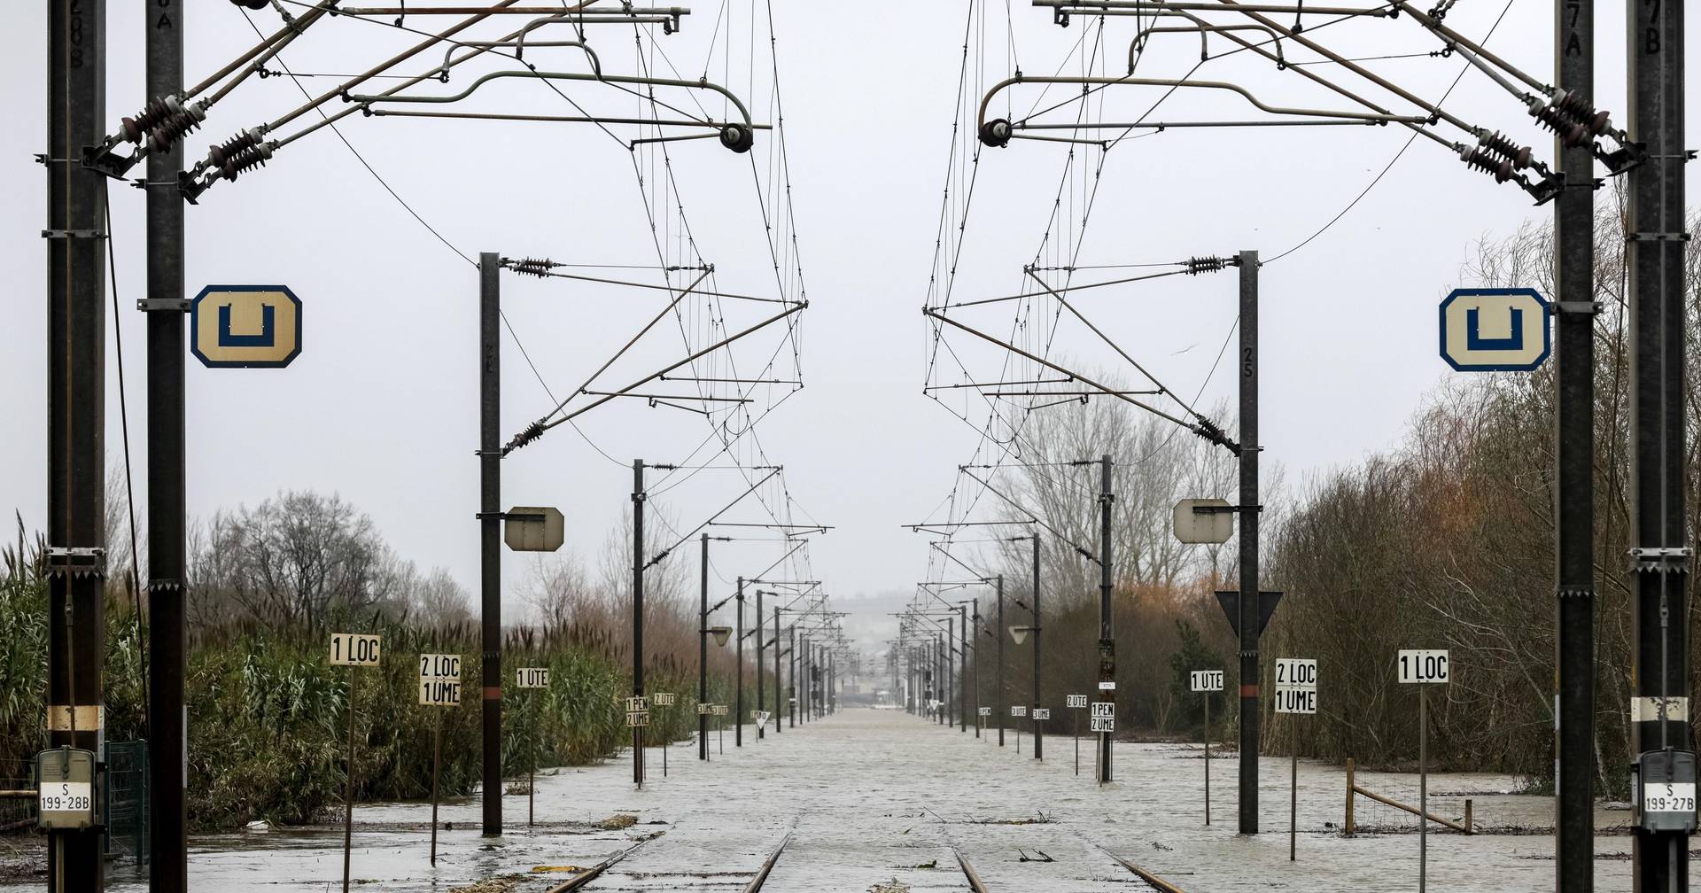
[[[711,75],[726,75],[735,92],[765,97],[765,68],[757,65],[752,73],[747,58],[750,5],[731,2],[726,19],[718,2],[697,5],[684,31],[660,41],[660,49],[689,77],[697,77],[708,60]],[[987,48],[980,73],[971,75],[973,97],[1015,65],[1029,75],[1055,71],[1084,27],[1095,27],[1077,20],[1060,29],[1048,10],[1024,2],[1010,3],[1009,20],[1004,5],[990,7],[985,22],[973,27],[975,53]],[[111,3],[105,117],[114,124],[146,99],[139,9]],[[919,310],[946,185],[964,9],[946,2],[774,3],[798,257],[811,306],[803,313],[798,342],[806,386],[767,415],[759,432],[765,454],[786,466],[789,493],[801,510],[796,520],[837,527],[813,546],[813,566],[842,597],[907,590],[919,578],[927,546],[900,524],[934,510],[951,486],[954,466],[976,444],[975,430],[920,395],[929,330]],[[1504,9],[1499,0],[1463,0],[1448,24],[1482,36]],[[233,5],[194,3],[189,14],[191,78],[253,41]],[[1512,2],[1490,46],[1548,77],[1551,14],[1551,3]],[[0,248],[0,265],[14,294],[0,352],[0,376],[9,384],[0,410],[10,420],[0,439],[0,466],[7,469],[0,475],[0,505],[17,507],[31,527],[43,524],[46,505],[46,286],[37,238],[44,177],[31,162],[44,150],[43,17],[39,3],[12,10],[12,32],[22,39],[0,56],[0,95],[12,121],[0,129],[0,158],[10,173],[0,214],[12,236]],[[1597,95],[1619,122],[1623,19],[1623,3],[1597,5]],[[257,20],[269,27],[276,14],[259,14]],[[410,24],[425,20],[413,17]],[[759,29],[765,31],[765,22]],[[1112,73],[1124,71],[1121,58],[1135,31],[1131,19],[1109,22],[1104,54]],[[480,34],[493,36],[495,29]],[[1005,34],[1015,36],[1014,51]],[[403,39],[390,29],[337,19],[291,46],[284,61],[296,71],[347,73],[386,58]],[[1439,48],[1407,17],[1349,22],[1318,31],[1317,39],[1349,56]],[[721,41],[723,49],[711,53],[713,41]],[[755,43],[765,44],[765,34],[757,34]],[[634,71],[629,29],[599,31],[594,44],[606,71]],[[1198,61],[1198,48],[1191,34],[1160,36],[1141,60],[1141,73],[1182,77]],[[1291,46],[1288,51],[1310,58]],[[534,53],[529,58],[544,66],[583,70],[582,58],[570,56],[577,51]],[[441,60],[441,51],[422,60],[432,56]],[[403,70],[429,65],[417,61]],[[1463,61],[1422,56],[1369,65],[1434,99]],[[1078,70],[1078,61],[1073,66]],[[1342,75],[1332,66],[1315,70]],[[1198,77],[1233,80],[1271,104],[1347,107],[1249,53],[1215,60]],[[449,87],[427,83],[417,90],[452,92],[469,80],[458,71]],[[303,83],[323,90],[333,80]],[[629,97],[624,104],[607,99],[595,85],[570,83],[563,90],[606,114],[633,111]],[[561,97],[536,83],[495,85],[480,97],[486,94],[483,111],[573,114]],[[1150,87],[1107,90],[1094,114],[1129,121],[1160,94]],[[1036,99],[1038,90],[1024,87],[1009,102],[1021,109]],[[191,158],[199,158],[211,141],[299,100],[287,78],[245,83],[191,136]],[[772,121],[772,109],[762,105],[754,109],[757,119]],[[1538,156],[1553,155],[1551,141],[1516,100],[1476,73],[1465,77],[1448,109],[1514,133],[1534,145]],[[1184,90],[1165,100],[1153,119],[1250,114],[1233,97]],[[1689,119],[1701,119],[1694,107]],[[464,253],[657,262],[629,155],[595,128],[354,116],[342,133]],[[759,134],[752,153],[764,179],[769,139]],[[1398,128],[1172,129],[1129,139],[1104,165],[1080,264],[1170,262],[1242,248],[1274,257],[1340,213],[1407,139],[1408,131]],[[1039,250],[1070,150],[1017,141],[981,155],[956,299],[1009,294],[1021,286],[1021,264]],[[774,272],[750,160],[714,141],[675,143],[670,156],[691,235],[703,257],[716,264],[718,286],[772,296]],[[1084,196],[1085,182],[1077,180],[1077,194]],[[128,308],[143,287],[143,196],[128,187],[114,187],[111,196]],[[1080,213],[1078,206],[1065,209],[1067,216]],[[1400,435],[1422,395],[1451,374],[1436,357],[1436,303],[1461,284],[1459,265],[1471,243],[1546,214],[1512,185],[1495,185],[1420,139],[1334,228],[1264,269],[1266,456],[1289,469],[1289,483],[1352,463]],[[677,240],[668,250],[679,250]],[[468,262],[412,219],[349,148],[321,131],[287,146],[269,167],[219,184],[189,209],[187,270],[191,294],[209,282],[282,282],[306,306],[306,349],[286,371],[213,371],[191,362],[191,512],[252,505],[281,488],[333,490],[369,512],[398,553],[424,566],[447,566],[469,589],[476,585],[476,279]],[[512,277],[505,289],[514,327],[558,393],[577,386],[665,301],[660,293]],[[1192,393],[1206,383],[1233,320],[1233,296],[1230,272],[1107,289],[1090,301],[1082,298],[1082,304],[1136,359],[1179,391]],[[750,313],[740,320],[757,318],[757,311],[740,313]],[[145,327],[133,310],[122,310],[119,321],[128,350],[138,503],[145,503]],[[740,354],[742,362],[760,366],[776,345],[772,338],[762,342]],[[512,342],[503,350],[503,429],[517,432],[551,403]],[[1056,350],[1116,369],[1080,330],[1060,335]],[[606,384],[624,384],[679,357],[675,332],[672,340],[646,342]],[[116,373],[116,362],[111,366]],[[789,373],[789,361],[777,373]],[[1118,379],[1135,384],[1131,374],[1119,373]],[[1204,403],[1228,396],[1232,386],[1232,376],[1218,374],[1206,386]],[[109,415],[116,463],[116,384],[109,388]],[[568,517],[568,548],[594,560],[629,505],[631,473],[623,463],[684,459],[708,429],[701,417],[631,401],[583,417],[583,432],[590,442],[558,429],[514,454],[505,464],[503,502],[560,505]],[[696,526],[737,495],[740,486],[730,475],[699,475],[657,502],[679,524]],[[754,573],[774,555],[771,544],[728,544],[714,561],[716,575],[730,580]],[[687,561],[694,568],[694,555]],[[509,555],[505,568],[515,580],[524,560]]]

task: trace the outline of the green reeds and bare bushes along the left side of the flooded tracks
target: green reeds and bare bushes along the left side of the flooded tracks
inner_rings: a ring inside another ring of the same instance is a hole
[[[286,493],[255,510],[218,519],[219,536],[196,553],[191,612],[189,820],[225,830],[253,820],[308,823],[342,803],[347,784],[349,702],[356,704],[356,796],[430,796],[435,737],[442,737],[442,796],[471,793],[481,776],[480,629],[464,592],[446,575],[420,577],[383,548],[364,515],[335,497]],[[308,519],[328,527],[296,536]],[[267,538],[272,538],[267,541]],[[242,541],[245,539],[245,541]],[[22,767],[44,747],[48,580],[43,546],[19,524],[0,577],[0,767]],[[257,556],[270,566],[260,573]],[[146,738],[145,665],[128,582],[107,590],[107,740]],[[272,582],[276,590],[269,590]],[[612,619],[617,595],[585,587],[555,592],[548,623],[510,626],[503,648],[502,765],[524,777],[531,765],[583,765],[631,740],[624,697],[631,651]],[[663,589],[665,594],[665,589]],[[646,738],[677,742],[697,726],[694,611],[665,599],[650,606],[653,641],[646,689],[679,694],[651,711]],[[379,667],[333,667],[332,631],[383,636]],[[461,702],[418,704],[418,653],[461,655]],[[548,667],[546,689],[517,689],[514,668]],[[731,701],[731,658],[714,655],[709,701]],[[350,687],[352,685],[352,687]]]

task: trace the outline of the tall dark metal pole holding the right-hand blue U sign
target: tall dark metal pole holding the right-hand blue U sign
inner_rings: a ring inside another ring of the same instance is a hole
[[[1594,102],[1594,0],[1555,0],[1555,83]],[[1555,779],[1558,893],[1594,890],[1594,153],[1555,139]],[[1579,311],[1579,306],[1590,310]]]

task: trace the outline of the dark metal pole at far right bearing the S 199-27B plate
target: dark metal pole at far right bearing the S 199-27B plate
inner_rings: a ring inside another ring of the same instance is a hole
[[[1669,774],[1694,760],[1689,730],[1689,565],[1684,517],[1686,366],[1684,303],[1684,3],[1628,3],[1630,138],[1647,158],[1630,172],[1631,556],[1636,650],[1631,679],[1633,740],[1641,786],[1694,781]],[[1665,764],[1664,769],[1648,762]],[[1662,788],[1657,788],[1662,789]],[[1631,845],[1638,893],[1689,890],[1694,813],[1638,810]],[[1657,820],[1660,830],[1641,822]]]

